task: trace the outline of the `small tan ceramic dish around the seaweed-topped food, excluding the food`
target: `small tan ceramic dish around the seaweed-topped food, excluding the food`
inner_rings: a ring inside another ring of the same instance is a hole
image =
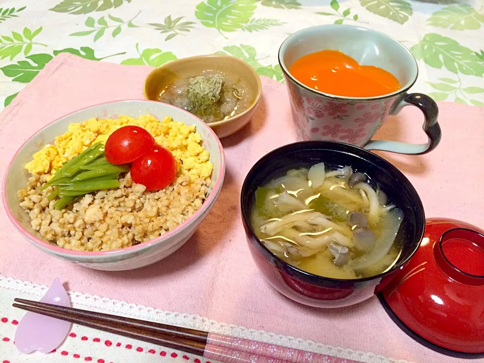
[[[254,68],[230,55],[197,55],[168,62],[154,69],[145,80],[146,99],[159,101],[160,94],[175,80],[200,76],[202,73],[221,73],[227,78],[239,78],[244,81],[246,97],[250,104],[242,112],[227,119],[207,123],[221,139],[232,135],[246,126],[259,105],[262,84]]]

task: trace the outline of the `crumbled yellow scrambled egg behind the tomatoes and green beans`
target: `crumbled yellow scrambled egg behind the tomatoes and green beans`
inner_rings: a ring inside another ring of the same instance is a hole
[[[146,129],[158,145],[168,149],[178,162],[178,173],[189,174],[192,180],[211,176],[213,164],[209,161],[210,154],[203,148],[202,137],[196,132],[196,127],[175,122],[170,116],[159,122],[149,114],[138,118],[91,118],[83,123],[71,124],[65,134],[55,138],[54,145],[47,144],[36,152],[25,168],[34,175],[53,173],[64,162],[92,144],[105,143],[111,133],[127,125]]]

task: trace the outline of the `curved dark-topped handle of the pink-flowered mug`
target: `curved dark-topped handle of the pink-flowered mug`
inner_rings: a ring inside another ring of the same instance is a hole
[[[423,122],[422,129],[429,138],[427,144],[408,144],[397,141],[370,140],[370,142],[364,146],[364,149],[383,150],[410,155],[427,154],[428,152],[434,150],[437,145],[439,145],[442,137],[440,126],[437,122],[437,116],[439,114],[437,103],[435,103],[432,98],[425,94],[407,93],[405,94],[403,100],[393,109],[391,114],[395,115],[400,112],[403,107],[409,105],[417,106],[423,112],[425,121]]]

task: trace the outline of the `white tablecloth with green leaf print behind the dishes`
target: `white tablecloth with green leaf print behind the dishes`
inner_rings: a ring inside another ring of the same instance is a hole
[[[62,52],[155,67],[228,53],[283,82],[277,50],[284,38],[344,23],[410,48],[420,68],[414,91],[484,105],[483,8],[483,0],[3,0],[0,102],[7,106]]]

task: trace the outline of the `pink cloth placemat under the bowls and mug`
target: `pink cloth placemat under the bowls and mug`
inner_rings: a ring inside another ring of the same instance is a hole
[[[142,99],[150,67],[120,66],[58,55],[0,114],[0,175],[16,149],[38,129],[93,104]],[[227,171],[220,197],[183,248],[153,266],[102,272],[56,260],[27,243],[0,214],[0,275],[49,285],[54,277],[73,291],[316,342],[425,363],[466,361],[433,352],[400,331],[377,298],[337,310],[288,300],[262,277],[246,246],[239,192],[250,167],[265,153],[294,142],[285,86],[263,78],[263,99],[251,123],[225,138]],[[484,108],[439,103],[443,139],[424,156],[381,153],[411,180],[428,217],[445,216],[484,227]],[[81,120],[80,120],[81,121]],[[421,142],[422,116],[406,107],[378,138]],[[480,360],[484,361],[484,360]]]

